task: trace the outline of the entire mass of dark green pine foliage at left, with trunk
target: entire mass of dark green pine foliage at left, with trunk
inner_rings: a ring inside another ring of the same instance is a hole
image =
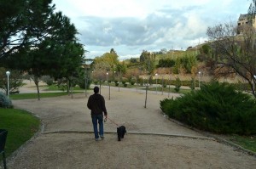
[[[23,70],[38,78],[79,75],[84,48],[76,38],[78,31],[67,16],[54,12],[51,0],[1,1],[0,60],[2,66]],[[39,99],[39,91],[38,91]]]

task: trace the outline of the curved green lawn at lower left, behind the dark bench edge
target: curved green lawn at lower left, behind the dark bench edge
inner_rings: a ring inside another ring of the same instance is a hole
[[[11,155],[38,132],[40,121],[25,110],[0,108],[0,128],[8,131],[5,144],[6,155]],[[0,161],[2,160],[2,155]]]

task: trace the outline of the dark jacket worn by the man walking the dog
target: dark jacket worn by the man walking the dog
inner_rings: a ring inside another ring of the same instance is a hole
[[[94,93],[90,95],[87,103],[87,107],[91,110],[91,115],[107,115],[107,110],[105,106],[105,99],[99,93]]]

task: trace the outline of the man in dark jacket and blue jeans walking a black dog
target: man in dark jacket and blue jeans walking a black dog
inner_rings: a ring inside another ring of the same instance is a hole
[[[87,107],[91,110],[90,115],[91,115],[93,131],[95,134],[96,141],[99,140],[97,123],[99,123],[100,137],[103,139],[104,138],[103,112],[104,112],[105,118],[108,117],[108,112],[105,106],[105,99],[99,93],[99,90],[100,90],[99,87],[93,88],[94,94],[90,95],[87,103]]]

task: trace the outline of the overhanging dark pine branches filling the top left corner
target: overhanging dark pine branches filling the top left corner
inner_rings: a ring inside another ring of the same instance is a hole
[[[47,37],[45,22],[55,5],[52,0],[2,0],[0,2],[0,59]]]

